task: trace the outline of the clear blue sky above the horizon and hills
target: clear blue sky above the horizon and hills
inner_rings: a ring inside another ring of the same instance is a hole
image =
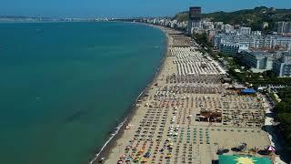
[[[201,6],[203,13],[265,5],[291,8],[290,0],[0,0],[0,15],[44,17],[172,16]]]

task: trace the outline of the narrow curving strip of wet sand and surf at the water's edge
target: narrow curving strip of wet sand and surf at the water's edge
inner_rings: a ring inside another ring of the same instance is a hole
[[[95,157],[89,161],[89,164],[96,164],[99,163],[99,161],[102,158],[108,159],[110,155],[110,150],[114,149],[115,146],[117,145],[117,140],[119,138],[122,138],[123,134],[125,133],[125,128],[126,125],[132,120],[132,118],[136,114],[136,110],[138,108],[138,100],[142,99],[145,97],[146,92],[148,92],[149,87],[153,86],[155,82],[157,81],[157,78],[161,74],[161,70],[163,67],[165,67],[165,60],[166,56],[168,55],[169,51],[169,35],[166,33],[166,30],[163,29],[160,26],[154,26],[154,25],[149,25],[149,24],[143,24],[143,23],[136,23],[144,26],[151,26],[156,29],[161,30],[164,35],[166,36],[166,43],[165,43],[165,51],[162,57],[162,60],[160,61],[159,67],[156,68],[156,73],[154,77],[150,80],[151,82],[146,85],[146,87],[143,89],[143,91],[135,98],[135,101],[131,105],[131,107],[128,109],[128,112],[125,114],[125,118],[123,121],[117,124],[115,127],[114,133],[110,134],[110,137],[106,140],[105,144],[102,146],[101,149],[98,150],[98,152],[95,154]]]

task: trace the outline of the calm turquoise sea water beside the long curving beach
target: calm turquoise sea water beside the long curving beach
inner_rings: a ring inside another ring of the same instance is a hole
[[[0,163],[88,163],[165,48],[137,24],[0,24]]]

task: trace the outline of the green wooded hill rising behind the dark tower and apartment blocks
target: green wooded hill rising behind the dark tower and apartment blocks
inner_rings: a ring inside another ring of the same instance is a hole
[[[215,12],[203,14],[214,22],[224,22],[231,25],[246,25],[254,29],[260,29],[263,22],[268,22],[272,28],[277,21],[291,21],[291,9],[276,9],[266,6],[256,7],[254,9],[245,9],[235,12]],[[179,21],[188,20],[188,12],[181,12],[175,15]]]

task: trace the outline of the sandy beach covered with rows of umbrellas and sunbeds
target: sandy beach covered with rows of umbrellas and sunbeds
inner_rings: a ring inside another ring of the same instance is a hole
[[[263,98],[223,83],[226,71],[191,38],[159,28],[168,42],[164,63],[94,163],[211,163],[220,149],[261,157],[256,151],[270,145]]]

